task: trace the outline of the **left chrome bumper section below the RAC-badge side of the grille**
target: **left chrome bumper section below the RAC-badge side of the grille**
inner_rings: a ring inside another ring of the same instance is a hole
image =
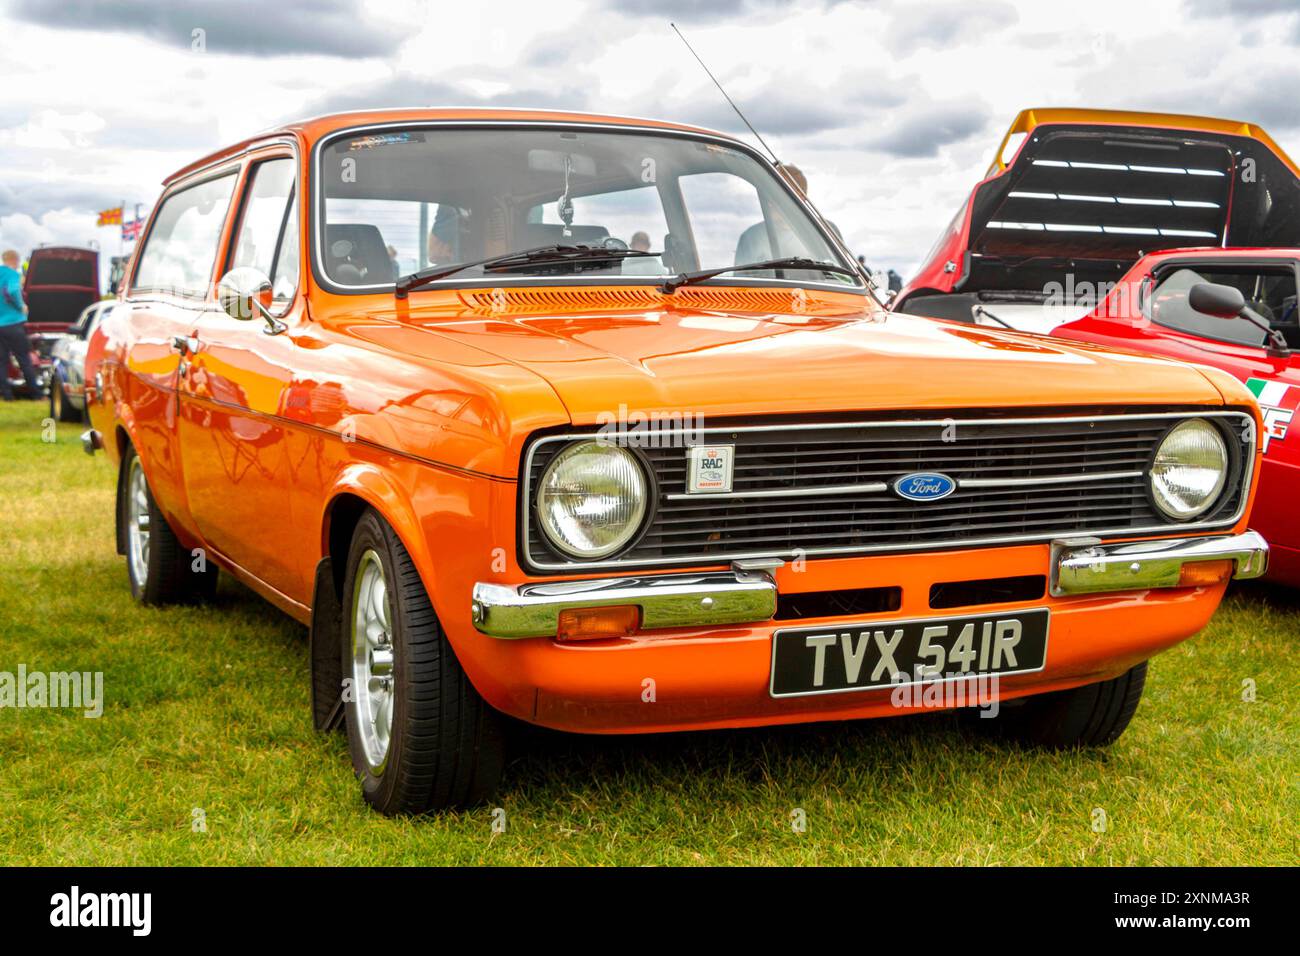
[[[554,637],[560,611],[636,605],[641,628],[750,624],[776,614],[776,583],[767,574],[710,571],[662,578],[598,578],[510,587],[474,584],[471,618],[489,637]]]

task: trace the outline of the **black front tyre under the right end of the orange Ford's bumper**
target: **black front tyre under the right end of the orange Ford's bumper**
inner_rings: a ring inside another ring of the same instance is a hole
[[[1011,701],[1000,708],[997,717],[979,715],[972,723],[997,736],[1052,750],[1106,747],[1134,719],[1145,683],[1143,661],[1112,680]]]

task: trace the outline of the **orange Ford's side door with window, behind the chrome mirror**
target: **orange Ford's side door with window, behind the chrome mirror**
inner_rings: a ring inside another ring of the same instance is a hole
[[[277,594],[302,602],[287,507],[285,392],[292,380],[298,291],[296,160],[248,159],[221,272],[255,268],[273,287],[272,311],[238,321],[217,307],[194,316],[179,386],[178,444],[185,489],[203,540]]]

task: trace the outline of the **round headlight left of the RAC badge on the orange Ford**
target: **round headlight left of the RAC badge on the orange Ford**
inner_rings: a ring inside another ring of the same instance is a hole
[[[646,476],[627,449],[578,441],[555,455],[537,489],[546,537],[573,558],[603,558],[637,533],[646,514]]]

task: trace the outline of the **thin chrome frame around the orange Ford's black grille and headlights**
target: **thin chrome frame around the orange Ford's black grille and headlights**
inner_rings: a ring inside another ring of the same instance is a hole
[[[682,434],[682,436],[699,436],[701,433],[714,433],[725,432],[728,434],[733,433],[758,433],[758,432],[803,432],[814,429],[837,429],[837,428],[961,428],[962,425],[1031,425],[1031,424],[1076,424],[1087,421],[1167,421],[1171,419],[1239,419],[1243,424],[1240,429],[1242,444],[1245,446],[1244,460],[1242,467],[1242,485],[1245,488],[1251,486],[1251,481],[1254,477],[1254,454],[1256,446],[1258,444],[1254,429],[1254,418],[1249,412],[1235,411],[1235,410],[1210,410],[1204,411],[1176,411],[1176,412],[1150,412],[1148,415],[1127,412],[1123,415],[1054,415],[1046,418],[1008,418],[1008,419],[927,419],[927,420],[890,420],[890,421],[844,421],[844,423],[793,423],[785,425],[737,425],[732,428],[727,427],[706,427],[706,428],[680,428],[680,429],[663,429],[655,432],[655,438],[662,438],[667,434]],[[842,546],[842,548],[802,548],[792,550],[768,549],[757,551],[732,551],[724,554],[694,554],[677,558],[625,558],[614,561],[592,561],[592,562],[541,562],[533,561],[532,558],[532,540],[530,540],[530,527],[532,520],[529,514],[533,506],[532,494],[532,466],[533,457],[537,454],[537,449],[543,445],[556,442],[556,441],[576,441],[578,438],[592,438],[593,434],[598,434],[593,431],[588,432],[564,432],[562,434],[549,434],[538,438],[528,446],[528,453],[524,455],[524,468],[520,480],[520,489],[525,510],[520,514],[520,533],[523,544],[523,558],[528,567],[541,571],[541,572],[564,572],[564,571],[584,571],[589,568],[620,568],[620,567],[671,567],[671,566],[684,566],[684,564],[727,564],[733,561],[749,561],[753,558],[783,558],[786,561],[794,561],[797,558],[807,557],[822,557],[822,555],[835,555],[835,554],[880,554],[880,553],[909,553],[909,551],[922,551],[922,550],[954,550],[954,549],[975,549],[975,548],[992,548],[1002,545],[1017,545],[1017,544],[1036,544],[1036,542],[1049,542],[1056,538],[1065,537],[1079,537],[1080,535],[1096,536],[1096,537],[1119,537],[1119,536],[1136,536],[1136,535],[1167,535],[1169,532],[1192,532],[1192,531],[1213,531],[1236,524],[1242,515],[1245,514],[1245,506],[1249,501],[1249,494],[1242,494],[1242,502],[1236,509],[1236,512],[1228,518],[1219,519],[1217,522],[1190,522],[1186,524],[1153,524],[1145,527],[1121,527],[1121,528],[1060,528],[1056,531],[1043,532],[1041,535],[1002,535],[1002,536],[989,536],[978,538],[958,538],[949,541],[926,541],[920,544],[889,544],[889,545],[867,545],[867,546]],[[618,433],[611,433],[618,437]],[[633,437],[636,434],[633,433]]]

